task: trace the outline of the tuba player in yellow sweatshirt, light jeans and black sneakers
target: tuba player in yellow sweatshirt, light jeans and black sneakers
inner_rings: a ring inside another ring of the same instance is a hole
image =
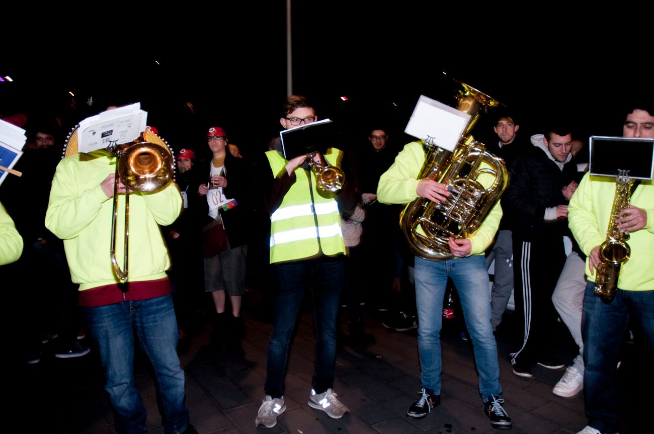
[[[381,203],[407,203],[418,197],[435,203],[445,201],[450,195],[445,185],[428,178],[416,179],[424,159],[425,152],[421,142],[411,142],[404,146],[393,165],[379,178],[377,199]],[[484,176],[480,176],[479,181],[485,188],[492,182]],[[489,293],[480,288],[488,284],[484,252],[493,240],[500,218],[502,209],[498,201],[481,227],[470,237],[450,237],[449,248],[455,258],[430,261],[420,256],[415,257],[421,390],[416,401],[407,410],[409,418],[424,418],[441,401],[441,312],[449,276],[456,285],[472,338],[479,373],[479,393],[485,412],[492,427],[511,428],[511,418],[502,407],[504,399],[500,385],[497,345],[490,325]]]

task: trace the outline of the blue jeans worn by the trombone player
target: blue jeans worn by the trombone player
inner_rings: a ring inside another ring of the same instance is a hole
[[[188,410],[184,405],[184,371],[176,351],[179,331],[173,296],[84,307],[84,315],[105,371],[105,390],[116,415],[116,431],[148,431],[145,407],[134,378],[135,335],[152,363],[163,431],[184,431]]]

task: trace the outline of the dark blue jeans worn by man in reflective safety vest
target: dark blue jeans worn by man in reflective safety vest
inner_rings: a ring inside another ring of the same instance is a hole
[[[343,288],[343,258],[297,261],[273,265],[273,331],[268,342],[266,395],[284,395],[290,339],[305,289],[313,293],[313,329],[316,336],[313,388],[322,393],[334,384],[336,316]]]

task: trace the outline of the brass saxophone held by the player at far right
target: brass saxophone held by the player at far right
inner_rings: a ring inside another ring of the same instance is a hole
[[[600,263],[595,275],[594,294],[604,303],[611,303],[615,298],[620,269],[631,255],[631,248],[627,244],[629,233],[618,229],[615,219],[621,210],[629,207],[634,180],[629,179],[628,171],[619,171],[616,180],[606,241],[600,245]]]

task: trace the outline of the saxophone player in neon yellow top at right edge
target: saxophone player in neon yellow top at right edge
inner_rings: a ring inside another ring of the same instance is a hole
[[[624,137],[654,138],[654,106],[632,105],[623,124]],[[645,367],[641,373],[645,391],[651,386],[654,348],[654,184],[643,181],[633,190],[630,205],[615,223],[630,232],[631,258],[623,264],[615,299],[604,303],[593,294],[600,244],[606,239],[615,181],[583,177],[568,207],[570,229],[587,254],[587,285],[583,300],[581,335],[584,342],[585,412],[588,425],[577,434],[617,433],[617,364],[627,325],[632,325],[635,343],[642,346]],[[640,377],[639,377],[640,378]],[[644,405],[649,407],[649,402]],[[645,428],[647,426],[647,428]],[[651,430],[651,422],[640,431]],[[638,431],[637,429],[634,431]]]

